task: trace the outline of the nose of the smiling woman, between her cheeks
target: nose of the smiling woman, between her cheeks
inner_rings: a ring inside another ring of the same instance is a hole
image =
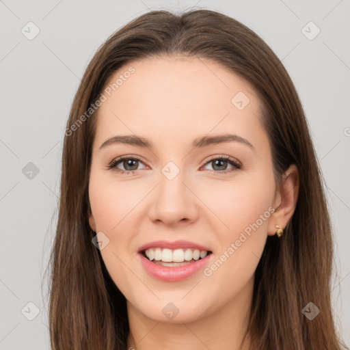
[[[198,198],[184,172],[180,171],[174,178],[168,176],[166,172],[161,172],[159,185],[154,192],[150,208],[152,221],[162,221],[167,225],[174,225],[179,221],[188,224],[196,221]]]

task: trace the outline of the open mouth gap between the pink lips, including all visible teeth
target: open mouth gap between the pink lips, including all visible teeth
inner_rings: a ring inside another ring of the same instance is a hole
[[[191,248],[176,250],[153,248],[140,252],[142,256],[154,264],[167,267],[189,265],[193,262],[204,259],[206,256],[212,253],[213,252],[211,251],[200,251]]]

